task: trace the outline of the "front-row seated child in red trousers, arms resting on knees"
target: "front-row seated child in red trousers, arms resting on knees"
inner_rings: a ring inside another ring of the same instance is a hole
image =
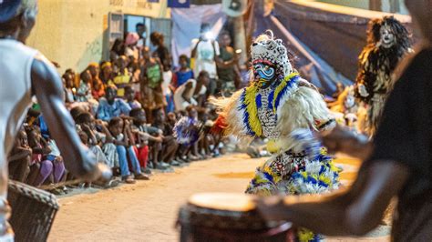
[[[137,148],[139,164],[147,167],[149,152],[151,154],[151,167],[159,170],[166,170],[170,165],[159,162],[159,152],[162,150],[162,131],[147,124],[146,113],[142,108],[136,108],[130,111],[133,118],[132,132],[138,136],[139,146]],[[147,156],[146,156],[147,153]]]

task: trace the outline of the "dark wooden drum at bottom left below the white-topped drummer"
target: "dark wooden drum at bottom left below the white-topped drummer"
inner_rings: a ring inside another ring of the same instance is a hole
[[[15,241],[46,241],[58,210],[57,198],[36,187],[9,181],[7,200],[12,207],[9,223]]]

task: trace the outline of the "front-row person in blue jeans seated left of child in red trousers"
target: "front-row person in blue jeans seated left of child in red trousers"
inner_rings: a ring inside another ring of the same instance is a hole
[[[114,137],[114,144],[117,146],[122,180],[127,184],[135,183],[135,179],[149,180],[149,176],[141,173],[139,160],[133,148],[133,137],[130,131],[129,121],[123,121],[120,117],[113,117],[109,120],[108,129],[111,136]],[[135,175],[134,177],[130,176],[128,156]]]

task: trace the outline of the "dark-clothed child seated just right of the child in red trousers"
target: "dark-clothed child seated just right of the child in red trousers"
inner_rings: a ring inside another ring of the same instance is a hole
[[[160,154],[161,160],[164,163],[170,164],[171,166],[180,166],[182,161],[175,160],[177,151],[179,148],[179,143],[177,143],[176,138],[173,136],[173,126],[170,126],[166,122],[166,116],[163,109],[155,109],[153,126],[162,130],[162,151]]]

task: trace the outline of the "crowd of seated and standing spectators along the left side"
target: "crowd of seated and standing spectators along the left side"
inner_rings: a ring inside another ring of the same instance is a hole
[[[169,172],[173,166],[219,156],[221,136],[211,133],[217,113],[207,99],[241,86],[228,33],[221,33],[221,45],[201,35],[192,46],[192,61],[180,55],[179,66],[173,66],[164,35],[149,35],[154,46],[150,52],[143,26],[113,43],[109,61],[90,63],[80,72],[67,69],[62,75],[65,104],[83,145],[112,168],[113,181],[127,184],[147,180],[155,170]],[[209,46],[211,50],[205,50]],[[70,184],[65,181],[74,177],[68,175],[64,159],[34,100],[8,156],[11,178],[65,193],[63,185]]]

